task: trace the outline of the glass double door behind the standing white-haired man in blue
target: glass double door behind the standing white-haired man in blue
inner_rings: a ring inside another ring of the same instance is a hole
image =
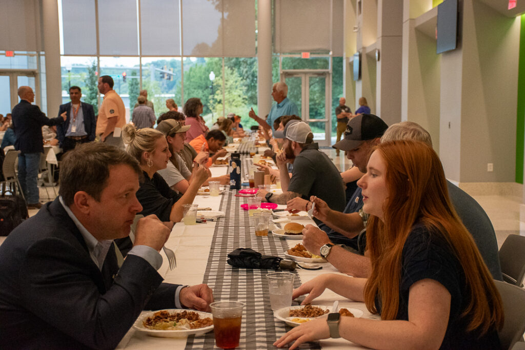
[[[310,125],[319,146],[330,145],[329,73],[302,71],[283,72],[288,85],[288,98],[297,104],[302,120]]]

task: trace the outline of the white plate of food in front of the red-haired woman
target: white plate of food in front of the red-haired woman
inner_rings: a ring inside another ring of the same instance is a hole
[[[283,307],[282,309],[275,311],[274,316],[276,319],[284,321],[288,325],[295,327],[301,323],[325,318],[330,311],[332,311],[331,306],[306,304]],[[343,307],[339,310],[339,314],[346,317],[361,317],[363,315],[363,311],[358,309],[345,309]]]

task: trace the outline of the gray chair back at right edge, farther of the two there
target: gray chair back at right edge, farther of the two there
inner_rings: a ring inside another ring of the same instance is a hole
[[[525,275],[525,237],[509,235],[499,249],[503,281],[523,287]]]

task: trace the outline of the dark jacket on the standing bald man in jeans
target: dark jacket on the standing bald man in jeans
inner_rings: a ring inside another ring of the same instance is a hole
[[[37,105],[26,100],[20,101],[11,113],[16,135],[15,149],[22,153],[43,153],[42,126],[53,126],[64,122],[61,116],[47,118]]]

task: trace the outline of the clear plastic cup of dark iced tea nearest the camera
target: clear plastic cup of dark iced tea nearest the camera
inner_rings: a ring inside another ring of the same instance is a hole
[[[240,301],[216,301],[209,304],[213,314],[215,345],[222,349],[239,346],[240,324],[246,304]]]

